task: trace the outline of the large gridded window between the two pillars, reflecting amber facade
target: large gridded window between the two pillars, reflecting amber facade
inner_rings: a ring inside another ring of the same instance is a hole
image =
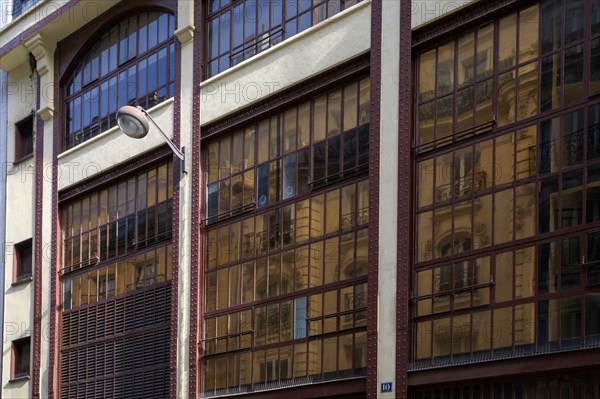
[[[368,98],[365,78],[207,143],[204,395],[365,375]]]

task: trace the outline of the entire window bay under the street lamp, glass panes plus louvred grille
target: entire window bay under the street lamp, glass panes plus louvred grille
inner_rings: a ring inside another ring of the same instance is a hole
[[[172,175],[165,162],[60,206],[63,398],[134,397],[133,381],[169,397]]]

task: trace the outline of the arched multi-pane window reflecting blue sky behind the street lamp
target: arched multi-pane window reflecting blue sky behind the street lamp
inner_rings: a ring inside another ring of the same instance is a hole
[[[173,15],[152,11],[123,19],[100,37],[65,88],[64,149],[116,126],[122,105],[149,108],[173,95],[174,31]]]

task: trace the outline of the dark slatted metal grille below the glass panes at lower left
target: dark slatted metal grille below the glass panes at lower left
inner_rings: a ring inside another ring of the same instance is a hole
[[[61,398],[169,397],[165,283],[62,315]]]

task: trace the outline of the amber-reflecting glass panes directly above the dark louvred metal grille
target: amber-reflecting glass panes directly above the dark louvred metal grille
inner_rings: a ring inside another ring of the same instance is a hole
[[[171,279],[172,175],[163,164],[61,209],[65,310]]]

